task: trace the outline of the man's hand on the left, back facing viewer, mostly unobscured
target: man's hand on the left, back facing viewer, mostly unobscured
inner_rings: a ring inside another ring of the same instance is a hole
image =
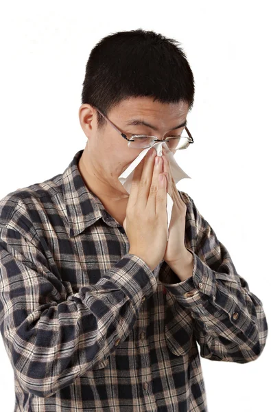
[[[143,157],[134,169],[130,196],[123,227],[130,242],[129,253],[139,256],[150,267],[156,268],[167,247],[167,179],[163,174],[163,159],[156,155]],[[154,159],[160,159],[158,165]],[[162,174],[163,183],[158,181]]]

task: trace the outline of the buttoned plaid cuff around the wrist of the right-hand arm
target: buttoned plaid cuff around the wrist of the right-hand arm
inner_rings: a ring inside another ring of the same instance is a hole
[[[215,297],[215,274],[207,264],[200,260],[196,253],[191,251],[191,249],[187,250],[193,255],[192,276],[180,281],[176,273],[172,271],[172,268],[164,262],[163,275],[159,275],[159,280],[183,306],[207,304],[210,298],[213,299]]]

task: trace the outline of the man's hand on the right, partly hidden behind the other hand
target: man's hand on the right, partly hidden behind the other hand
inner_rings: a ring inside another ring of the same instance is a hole
[[[167,176],[167,193],[171,196],[173,203],[172,218],[169,225],[169,240],[165,249],[164,260],[167,264],[172,264],[187,258],[189,251],[185,247],[185,216],[187,205],[180,198],[178,189],[172,178],[170,163],[163,149],[163,172]]]

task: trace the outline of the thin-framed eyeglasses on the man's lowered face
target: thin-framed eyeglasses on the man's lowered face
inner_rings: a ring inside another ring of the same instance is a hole
[[[186,126],[185,126],[185,130],[188,136],[183,136],[183,135],[182,136],[169,136],[169,137],[166,137],[165,140],[159,140],[157,139],[156,136],[131,135],[130,139],[128,139],[127,135],[129,133],[126,135],[125,133],[121,132],[121,130],[119,130],[119,128],[117,128],[115,124],[113,124],[108,119],[108,117],[106,117],[101,111],[99,111],[98,108],[96,108],[96,110],[102,115],[102,117],[104,117],[104,119],[107,120],[107,122],[110,123],[111,126],[113,126],[113,128],[115,128],[115,130],[117,130],[118,133],[121,134],[121,136],[124,139],[128,140],[128,147],[130,148],[144,149],[144,148],[149,148],[156,141],[165,141],[165,143],[167,144],[170,150],[182,150],[182,149],[188,148],[189,144],[194,142],[193,137],[191,136],[191,133],[189,132]]]

